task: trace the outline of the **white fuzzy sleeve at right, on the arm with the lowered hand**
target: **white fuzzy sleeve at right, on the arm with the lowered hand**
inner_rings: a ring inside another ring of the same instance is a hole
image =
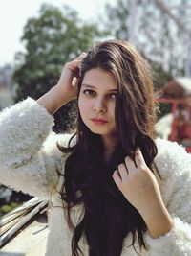
[[[191,154],[177,143],[158,139],[156,164],[162,176],[160,191],[173,228],[153,239],[146,234],[151,256],[191,255]]]

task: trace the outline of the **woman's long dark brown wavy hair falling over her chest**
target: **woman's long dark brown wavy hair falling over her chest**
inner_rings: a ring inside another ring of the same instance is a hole
[[[89,50],[82,62],[79,91],[84,74],[92,68],[110,72],[117,79],[118,144],[109,162],[105,162],[101,136],[86,127],[78,111],[76,144],[70,147],[69,143],[69,148],[57,144],[61,151],[71,152],[60,195],[67,205],[67,220],[73,230],[72,256],[83,255],[78,245],[82,236],[89,245],[89,256],[119,256],[128,234],[132,235],[130,246],[134,246],[138,232],[140,250],[146,249],[143,239],[146,224],[137,209],[118,191],[112,175],[125,156],[135,159],[137,147],[151,171],[156,170],[153,82],[146,61],[124,41],[104,41]],[[78,204],[83,204],[84,216],[74,225],[71,209]]]

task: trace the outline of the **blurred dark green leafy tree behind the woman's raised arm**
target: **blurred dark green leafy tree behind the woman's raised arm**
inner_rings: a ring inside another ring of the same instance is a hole
[[[17,53],[17,67],[13,74],[16,84],[14,101],[27,96],[38,99],[59,79],[64,63],[105,35],[96,24],[87,24],[77,12],[64,6],[59,10],[43,5],[39,15],[28,20],[22,40],[25,53]],[[75,101],[61,107],[54,115],[57,129],[74,128]]]

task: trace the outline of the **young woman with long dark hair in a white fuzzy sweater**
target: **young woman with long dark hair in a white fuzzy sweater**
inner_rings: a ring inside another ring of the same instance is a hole
[[[76,97],[75,134],[55,135],[53,113]],[[2,111],[0,182],[51,201],[47,256],[191,255],[191,156],[155,122],[149,68],[116,40]]]

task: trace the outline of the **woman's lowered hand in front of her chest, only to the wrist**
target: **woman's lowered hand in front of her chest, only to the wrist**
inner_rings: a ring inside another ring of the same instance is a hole
[[[113,178],[118,189],[141,215],[153,215],[164,207],[155,175],[147,167],[139,149],[135,152],[135,162],[125,157],[125,163],[118,165]]]

